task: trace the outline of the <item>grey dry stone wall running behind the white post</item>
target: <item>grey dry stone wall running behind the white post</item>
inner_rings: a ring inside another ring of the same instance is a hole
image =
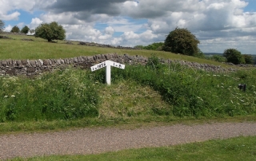
[[[98,64],[100,62],[110,60],[126,65],[146,65],[148,62],[147,57],[142,56],[130,56],[128,54],[118,55],[117,53],[98,54],[95,56],[81,56],[64,59],[44,59],[44,60],[2,60],[0,61],[0,75],[38,75],[46,71],[52,71],[54,69],[64,69],[72,66],[74,68],[90,69],[90,66]],[[171,64],[179,63],[181,65],[187,65],[194,69],[203,69],[212,72],[229,72],[235,69],[223,69],[221,66],[198,64],[188,61],[172,61],[172,60],[160,60],[162,63]]]

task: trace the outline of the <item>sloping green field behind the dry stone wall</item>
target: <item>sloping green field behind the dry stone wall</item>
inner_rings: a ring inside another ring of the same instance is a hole
[[[5,59],[48,59],[48,58],[68,58],[78,56],[92,56],[102,53],[118,53],[129,55],[140,55],[151,57],[154,54],[157,57],[172,60],[194,61],[198,63],[206,63],[211,65],[221,65],[222,67],[230,67],[216,61],[199,59],[197,57],[189,57],[175,53],[153,50],[131,50],[131,49],[111,49],[94,46],[78,45],[78,41],[73,41],[74,45],[66,44],[66,41],[58,41],[58,43],[49,43],[42,38],[36,38],[26,35],[2,34],[12,39],[0,39],[0,60]],[[22,39],[32,39],[34,41],[22,41]]]

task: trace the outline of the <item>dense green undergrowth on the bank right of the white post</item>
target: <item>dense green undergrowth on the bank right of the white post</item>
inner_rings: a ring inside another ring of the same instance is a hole
[[[126,70],[112,70],[113,81],[133,80],[158,91],[170,109],[152,108],[158,115],[174,116],[239,116],[255,113],[256,70],[230,74],[205,73],[182,65],[158,67],[158,59],[150,58],[146,67],[126,66]],[[95,81],[102,80],[104,71],[93,73]],[[99,79],[99,80],[98,80]],[[239,80],[239,81],[236,81]],[[250,84],[246,92],[238,84]]]

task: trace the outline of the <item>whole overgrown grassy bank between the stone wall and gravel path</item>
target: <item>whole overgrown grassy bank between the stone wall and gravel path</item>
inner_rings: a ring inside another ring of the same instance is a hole
[[[33,79],[0,77],[0,132],[255,115],[256,70],[206,73],[181,65],[66,69]],[[246,92],[238,84],[247,84]]]

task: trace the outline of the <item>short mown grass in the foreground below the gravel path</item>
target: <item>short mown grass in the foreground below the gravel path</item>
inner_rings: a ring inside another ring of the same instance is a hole
[[[245,160],[256,158],[256,136],[210,140],[171,147],[152,147],[107,152],[99,155],[52,155],[12,160]]]

